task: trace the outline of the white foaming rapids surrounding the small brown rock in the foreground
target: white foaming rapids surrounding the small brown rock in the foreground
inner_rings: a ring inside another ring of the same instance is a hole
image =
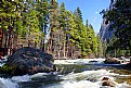
[[[64,79],[57,85],[53,85],[47,88],[128,88],[127,84],[118,84],[115,81],[115,76],[119,74],[110,73],[106,70],[97,71],[84,71],[81,73],[70,73],[64,75]],[[102,87],[102,78],[108,77],[116,86],[115,87]]]

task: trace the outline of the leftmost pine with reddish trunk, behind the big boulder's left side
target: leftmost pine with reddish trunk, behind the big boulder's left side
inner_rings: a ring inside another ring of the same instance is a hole
[[[0,29],[3,30],[4,48],[8,48],[9,54],[13,46],[15,21],[21,20],[21,10],[23,4],[21,1],[0,1]]]

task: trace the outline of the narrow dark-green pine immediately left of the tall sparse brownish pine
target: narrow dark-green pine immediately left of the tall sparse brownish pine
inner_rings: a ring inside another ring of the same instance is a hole
[[[48,34],[49,24],[49,2],[48,0],[38,0],[36,2],[36,10],[38,11],[39,29],[41,33],[41,46],[45,51],[45,35]]]

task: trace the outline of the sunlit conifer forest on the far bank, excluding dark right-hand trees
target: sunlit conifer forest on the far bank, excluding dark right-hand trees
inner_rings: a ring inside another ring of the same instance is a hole
[[[56,0],[1,0],[0,50],[12,54],[22,47],[51,53],[55,59],[103,56],[102,42],[80,8],[67,11]]]

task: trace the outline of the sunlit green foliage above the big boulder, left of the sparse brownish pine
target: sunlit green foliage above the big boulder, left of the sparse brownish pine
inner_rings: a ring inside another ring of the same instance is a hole
[[[48,0],[1,0],[0,4],[2,4],[0,7],[0,28],[6,29],[4,35],[13,29],[12,34],[17,40],[26,39],[25,41],[37,42],[37,45],[42,41],[49,24]]]

